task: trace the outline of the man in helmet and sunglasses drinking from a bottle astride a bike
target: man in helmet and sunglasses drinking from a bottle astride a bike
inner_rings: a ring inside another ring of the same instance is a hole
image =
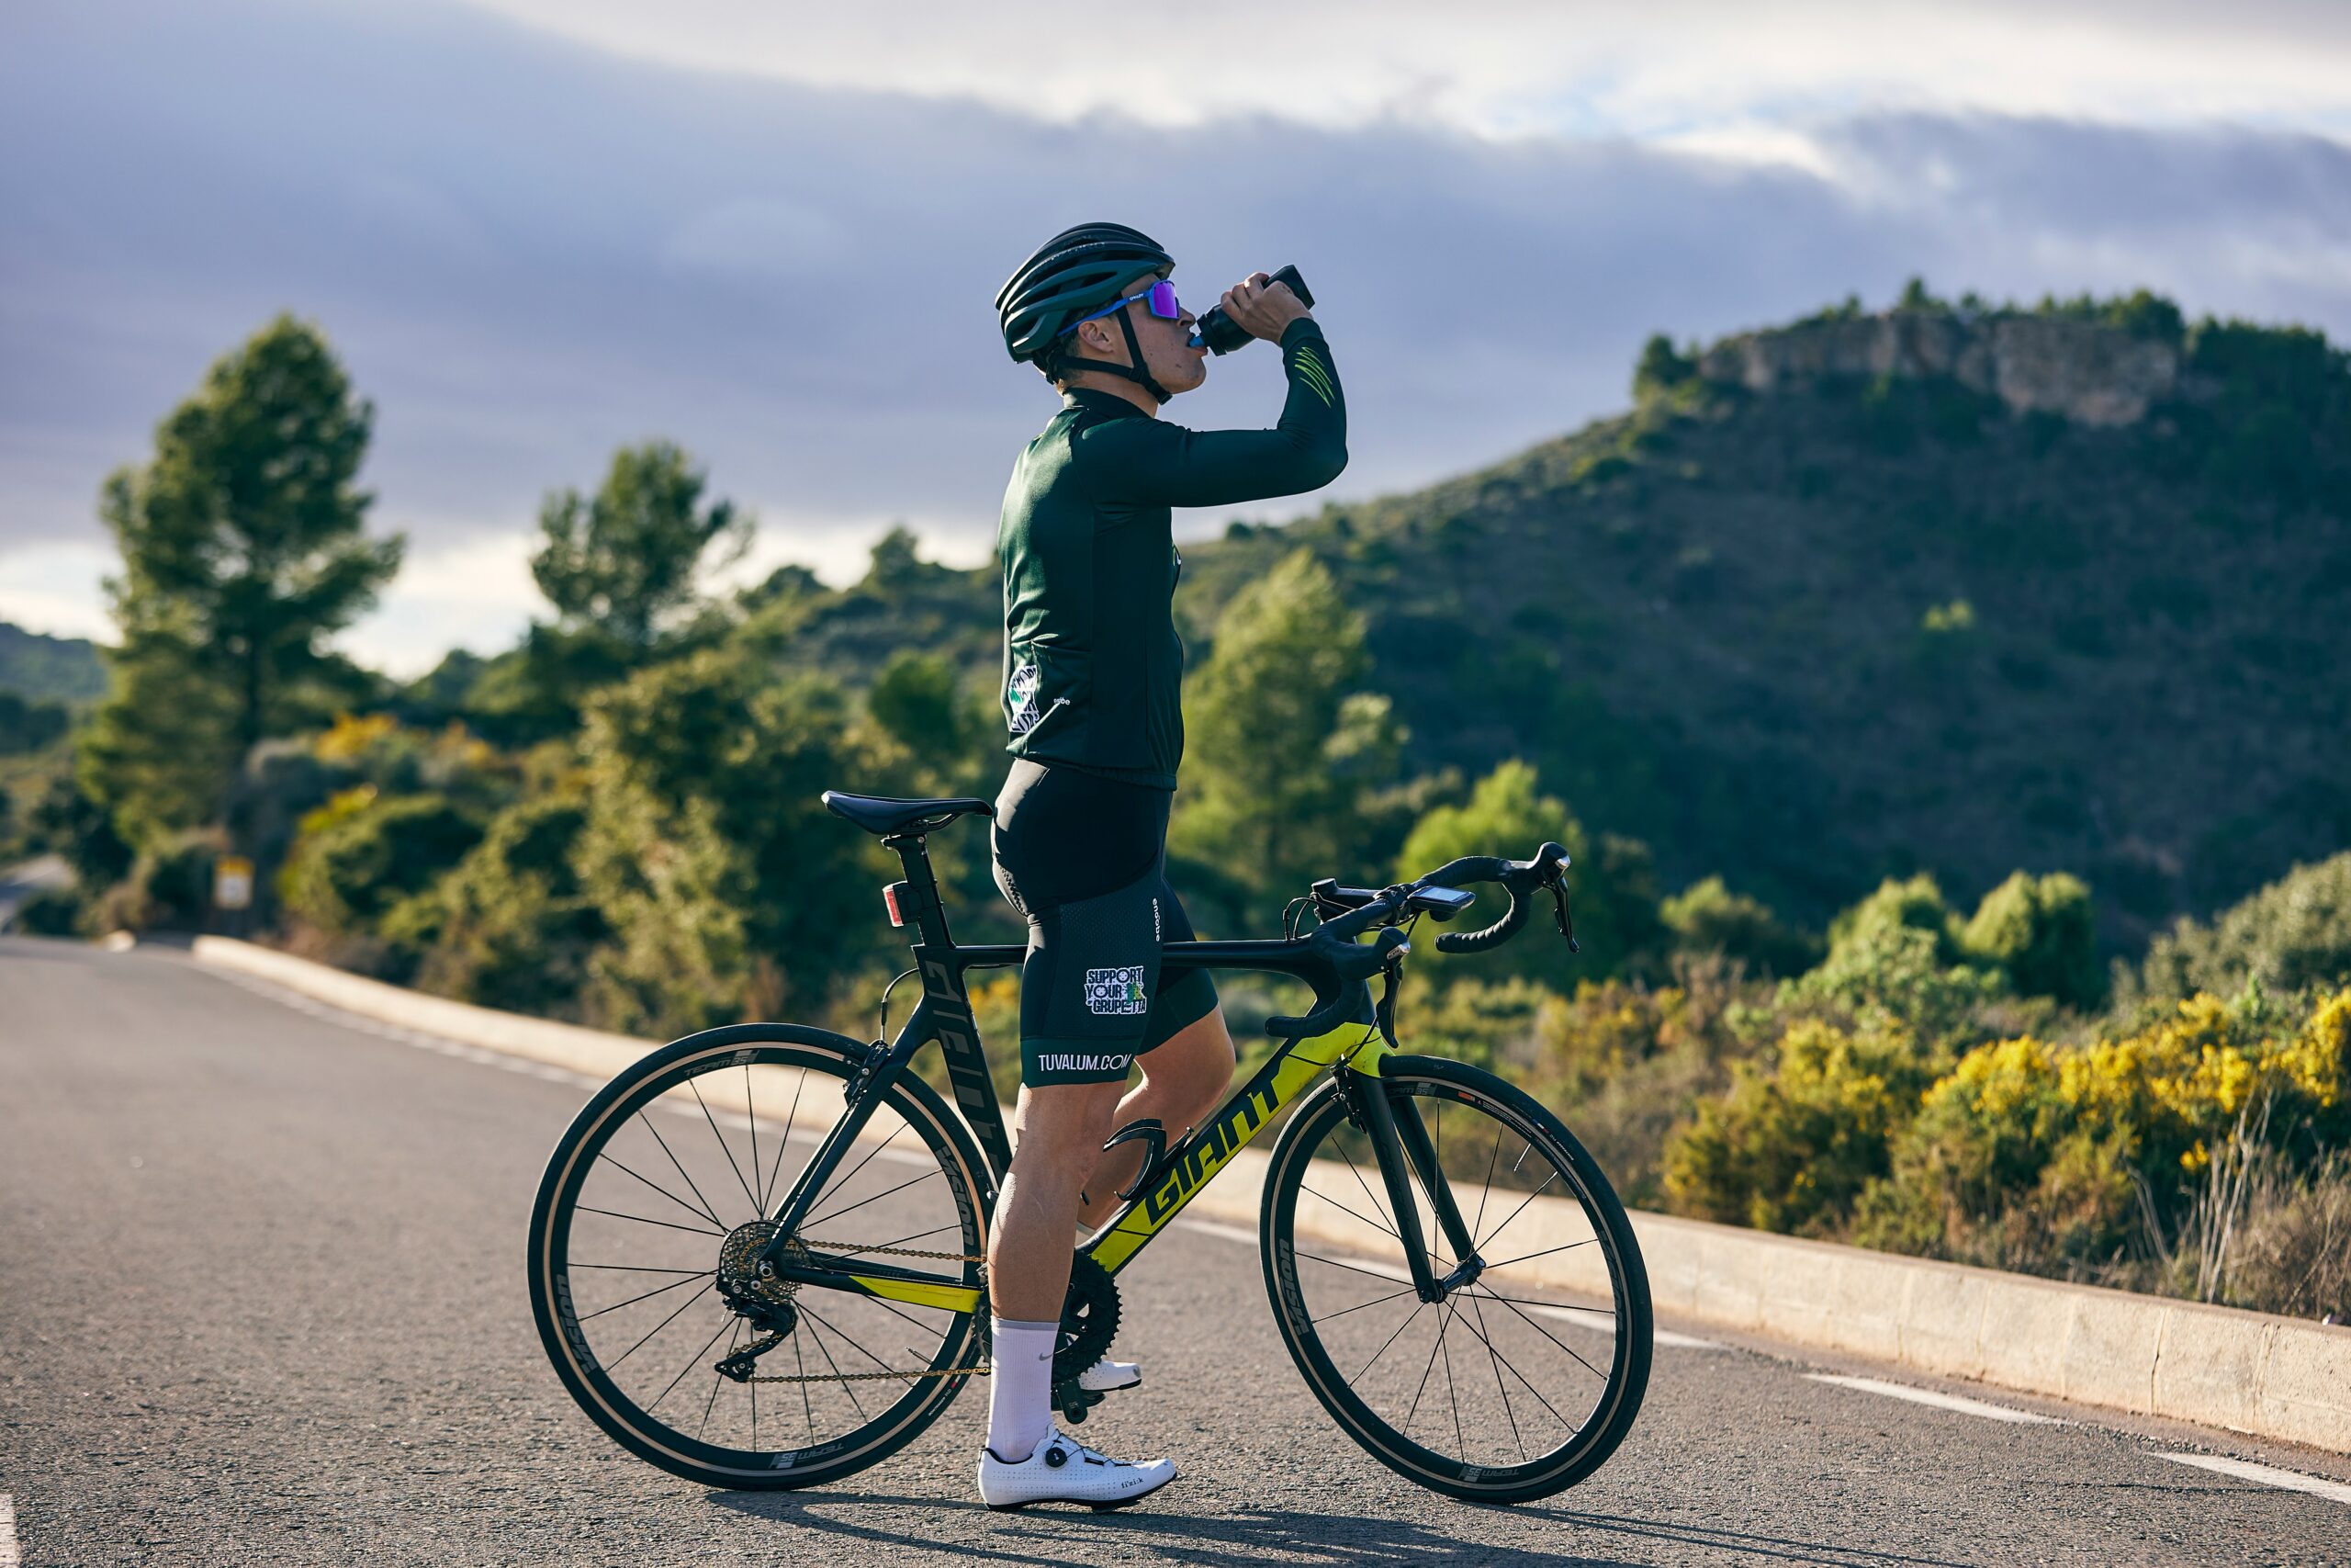
[[[1056,235],[997,294],[1004,346],[1063,393],[1004,491],[1004,722],[1016,762],[997,797],[997,886],[1030,922],[1020,971],[1018,1147],[987,1244],[994,1312],[990,1507],[1121,1507],[1176,1479],[1053,1427],[1053,1345],[1074,1227],[1117,1208],[1154,1117],[1168,1138],[1215,1110],[1232,1037],[1201,971],[1159,985],[1159,943],[1192,926],[1166,884],[1166,823],[1183,757],[1183,559],[1171,505],[1225,505],[1328,484],[1347,465],[1347,404],[1321,327],[1255,273],[1223,296],[1251,336],[1281,346],[1288,397],[1272,430],[1194,433],[1159,407],[1208,378],[1176,270],[1150,235],[1084,223]],[[1124,1091],[1128,1065],[1143,1084]],[[1131,1387],[1105,1361],[1086,1387]]]

